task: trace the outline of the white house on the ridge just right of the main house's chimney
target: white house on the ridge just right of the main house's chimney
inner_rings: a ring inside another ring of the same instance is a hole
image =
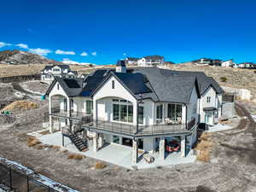
[[[164,65],[165,58],[160,55],[149,55],[144,56],[143,58],[137,61],[139,67],[155,67],[158,65]]]

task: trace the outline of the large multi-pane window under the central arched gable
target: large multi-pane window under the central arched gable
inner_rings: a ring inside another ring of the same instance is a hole
[[[126,100],[113,99],[113,120],[132,123],[132,103]]]

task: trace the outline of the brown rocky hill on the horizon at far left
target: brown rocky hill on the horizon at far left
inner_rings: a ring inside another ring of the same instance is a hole
[[[0,64],[63,64],[60,61],[49,60],[44,56],[32,54],[18,49],[0,51]]]

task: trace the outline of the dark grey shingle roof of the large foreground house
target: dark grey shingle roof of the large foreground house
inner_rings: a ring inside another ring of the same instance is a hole
[[[137,98],[150,98],[154,102],[189,103],[194,87],[203,94],[209,86],[221,93],[218,83],[201,72],[183,72],[157,67],[130,68],[127,73],[115,73],[114,69],[98,69],[85,79],[56,78],[67,96],[91,96],[96,89],[114,76]],[[76,83],[77,82],[77,83]]]

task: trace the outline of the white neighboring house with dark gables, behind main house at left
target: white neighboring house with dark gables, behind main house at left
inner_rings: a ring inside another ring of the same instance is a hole
[[[71,71],[68,65],[45,66],[41,71],[41,81],[51,83],[55,77],[77,78],[78,73]]]

